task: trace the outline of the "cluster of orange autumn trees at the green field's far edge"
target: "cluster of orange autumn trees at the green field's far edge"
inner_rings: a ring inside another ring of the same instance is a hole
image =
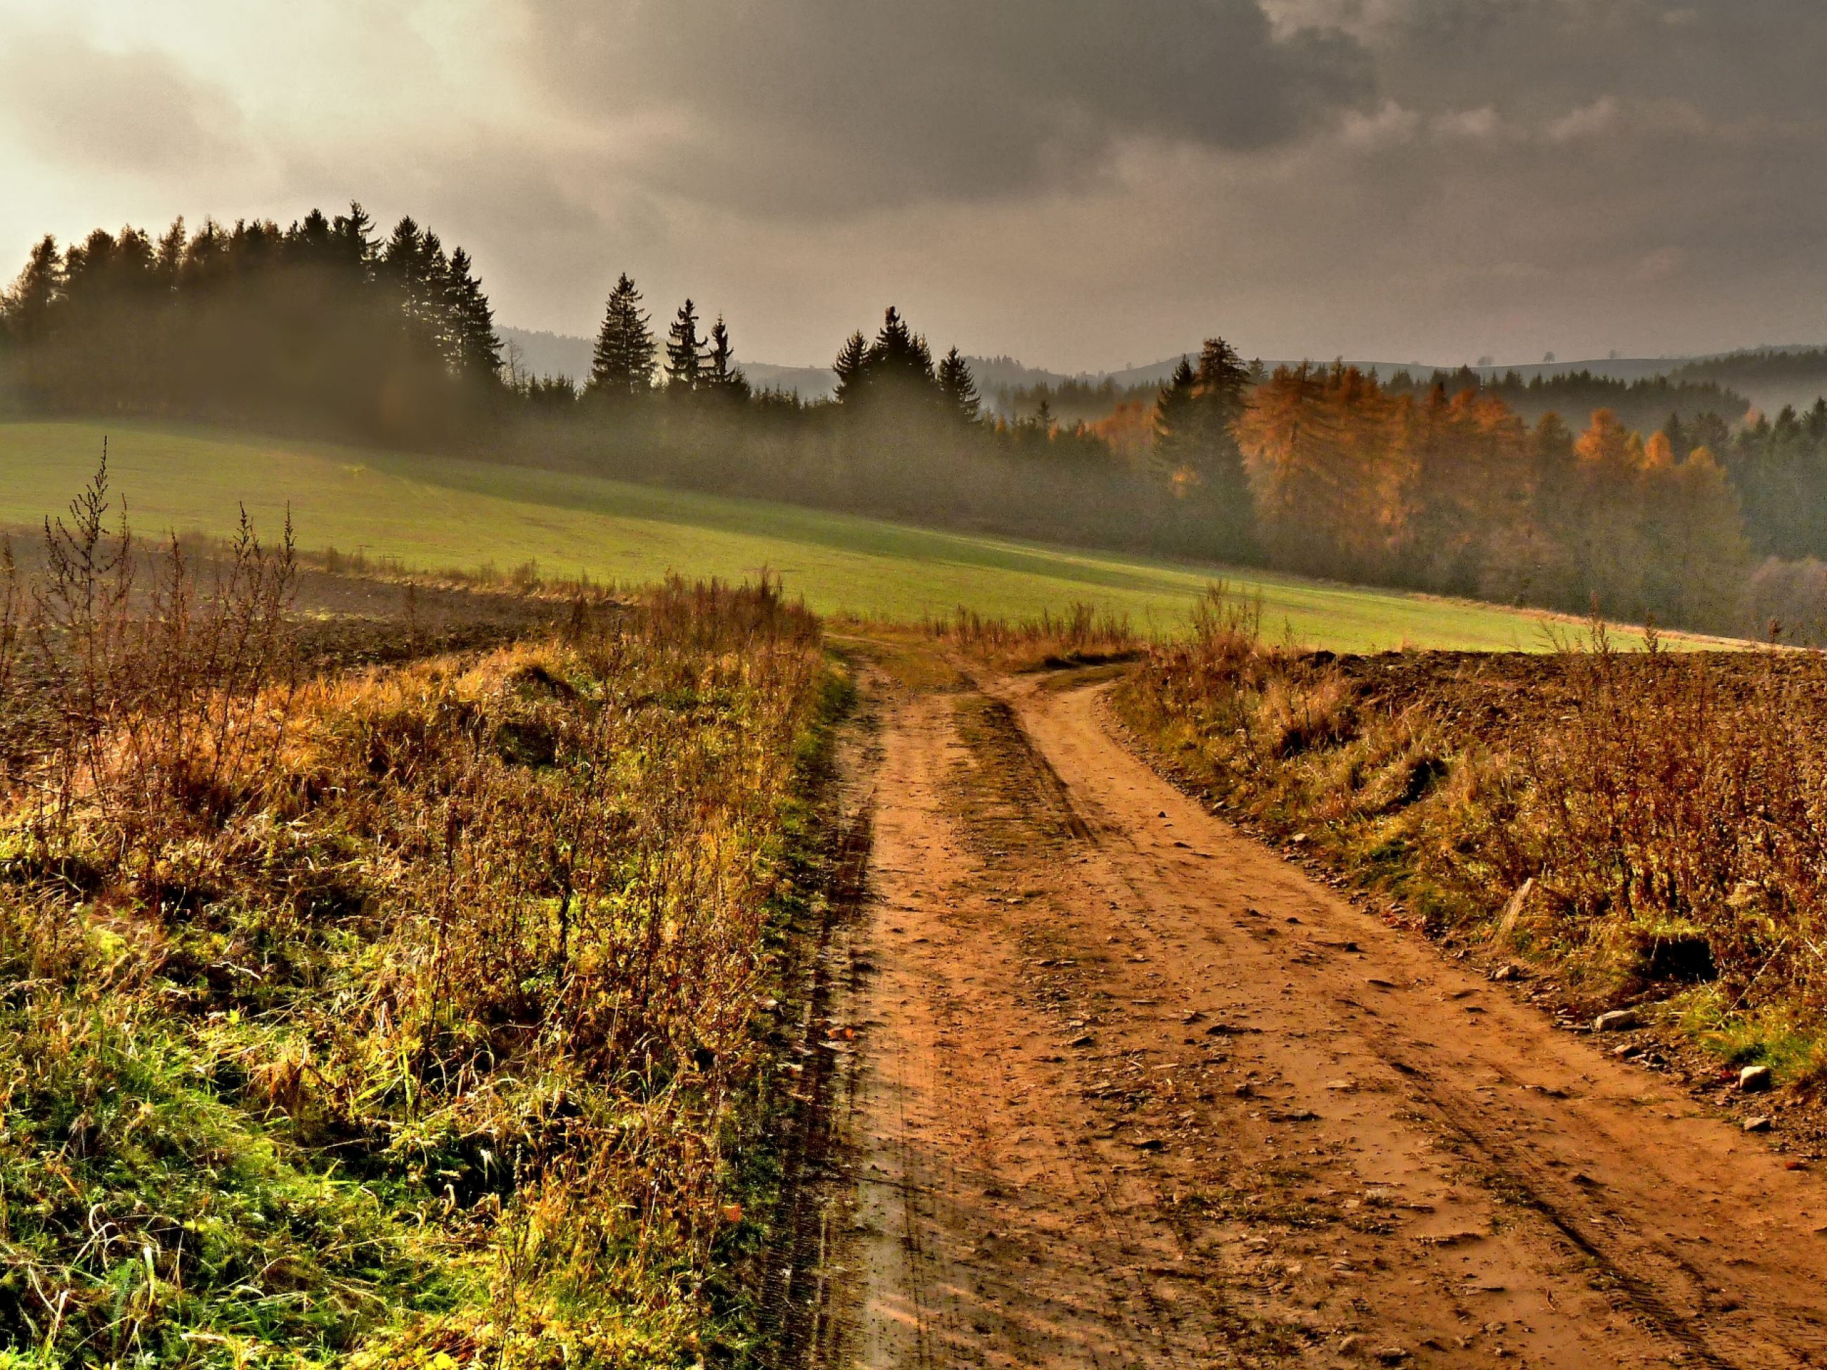
[[[1745,524],[1705,449],[1600,409],[1575,440],[1489,393],[1390,395],[1283,367],[1235,426],[1268,559],[1288,570],[1684,627],[1736,627]]]

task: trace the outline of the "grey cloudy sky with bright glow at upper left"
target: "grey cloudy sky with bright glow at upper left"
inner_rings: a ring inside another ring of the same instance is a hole
[[[1823,73],[1823,0],[0,0],[0,276],[360,199],[751,360],[1827,342]]]

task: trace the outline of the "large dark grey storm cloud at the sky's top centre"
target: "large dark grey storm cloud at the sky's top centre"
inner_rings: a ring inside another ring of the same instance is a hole
[[[1370,95],[1337,29],[1257,0],[543,0],[530,60],[576,110],[676,121],[645,170],[705,199],[848,210],[1009,195],[1125,139],[1268,148]]]

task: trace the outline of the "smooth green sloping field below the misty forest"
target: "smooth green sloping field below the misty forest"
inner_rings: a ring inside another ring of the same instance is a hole
[[[1213,579],[1261,594],[1262,623],[1336,650],[1537,648],[1540,616],[1292,575],[934,532],[764,501],[375,448],[238,437],[143,422],[0,424],[0,524],[37,524],[88,479],[111,438],[133,526],[225,533],[238,502],[300,546],[395,555],[415,570],[510,570],[621,583],[665,572],[740,581],[767,566],[818,612],[917,621],[1021,617],[1089,601],[1173,630]]]

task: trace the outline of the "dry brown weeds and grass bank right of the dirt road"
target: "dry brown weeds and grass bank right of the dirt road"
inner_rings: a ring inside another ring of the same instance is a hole
[[[1336,658],[1215,592],[1118,709],[1215,804],[1427,930],[1652,1008],[1734,1063],[1827,1078],[1827,659]]]

